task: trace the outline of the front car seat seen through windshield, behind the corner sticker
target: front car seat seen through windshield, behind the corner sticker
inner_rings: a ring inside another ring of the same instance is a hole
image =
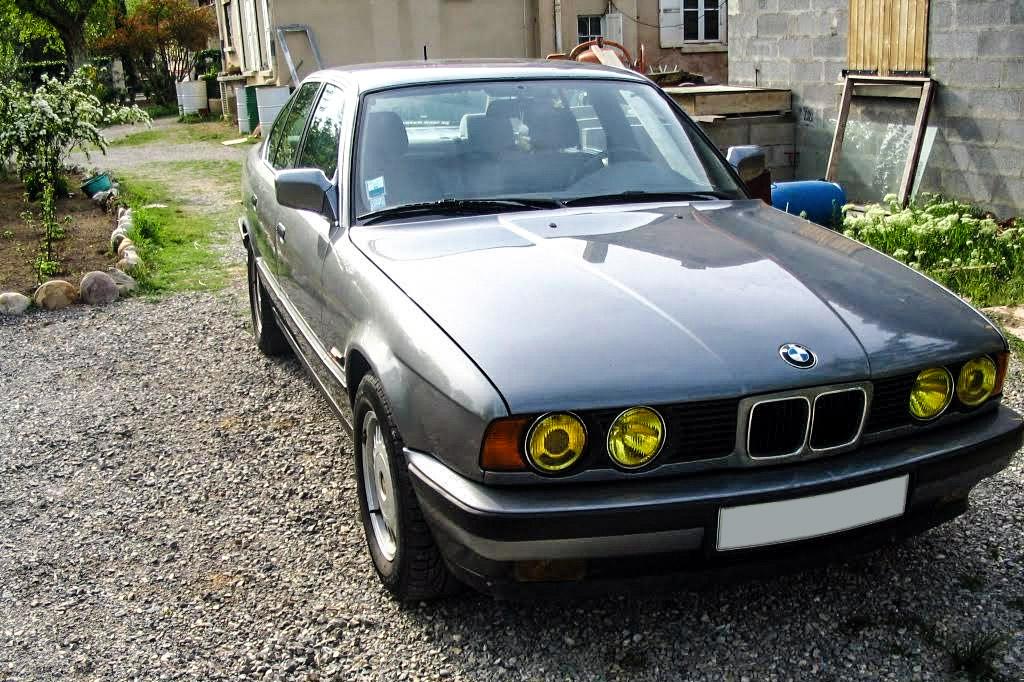
[[[424,164],[410,159],[409,134],[401,117],[394,112],[373,112],[367,116],[359,168],[364,186],[358,188],[358,205],[364,211],[371,206],[369,186],[384,185],[386,206],[416,204],[440,199],[436,175]]]

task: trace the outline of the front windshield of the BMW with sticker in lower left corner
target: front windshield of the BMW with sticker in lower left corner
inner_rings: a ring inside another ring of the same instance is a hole
[[[472,82],[367,94],[354,212],[437,203],[496,210],[688,198],[745,198],[708,142],[645,83]],[[422,207],[421,207],[422,208]],[[400,213],[400,211],[399,211]]]

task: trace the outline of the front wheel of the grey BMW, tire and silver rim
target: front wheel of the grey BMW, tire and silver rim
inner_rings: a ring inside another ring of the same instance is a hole
[[[402,601],[454,594],[459,583],[444,564],[420,511],[401,455],[401,436],[373,375],[359,382],[352,417],[359,517],[378,578]]]

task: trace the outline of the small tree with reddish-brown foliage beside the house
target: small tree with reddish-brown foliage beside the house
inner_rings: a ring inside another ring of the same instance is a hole
[[[216,35],[217,19],[209,7],[188,0],[141,0],[96,47],[130,56],[154,98],[166,102],[174,100],[174,83],[196,69],[200,52]]]

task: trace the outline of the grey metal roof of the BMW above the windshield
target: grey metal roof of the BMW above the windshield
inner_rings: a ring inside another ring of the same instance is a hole
[[[479,80],[544,78],[616,79],[644,82],[647,79],[626,69],[582,63],[568,59],[431,59],[428,61],[379,61],[324,69],[310,80],[352,83],[360,92],[401,85],[452,83]]]

